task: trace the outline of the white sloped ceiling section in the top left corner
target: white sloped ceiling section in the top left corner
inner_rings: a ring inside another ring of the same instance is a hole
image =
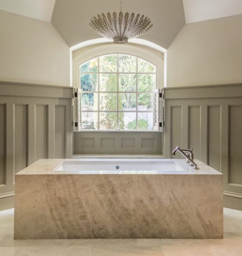
[[[0,0],[0,10],[51,21],[55,0]]]

